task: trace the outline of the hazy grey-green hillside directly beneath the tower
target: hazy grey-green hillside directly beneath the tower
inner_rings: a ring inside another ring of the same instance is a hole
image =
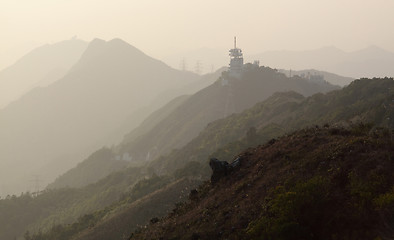
[[[227,72],[223,72],[222,77],[229,78]],[[192,96],[175,98],[152,113],[138,128],[125,136],[123,142],[114,148],[113,155],[131,156],[130,165],[133,166],[145,164],[146,161],[169,154],[175,148],[183,147],[198,136],[208,123],[252,107],[276,91],[293,90],[309,96],[332,89],[337,87],[308,82],[300,77],[287,78],[267,67],[246,65],[242,79],[233,79],[226,86],[218,80]],[[105,174],[106,168],[107,174],[113,171],[113,168],[108,167],[108,162],[92,159],[90,164],[80,164],[59,177],[50,187],[78,187],[97,181]],[[103,169],[100,171],[102,174],[97,175],[95,169]],[[84,181],[85,174],[92,176],[91,181]],[[83,181],[78,183],[78,179]]]

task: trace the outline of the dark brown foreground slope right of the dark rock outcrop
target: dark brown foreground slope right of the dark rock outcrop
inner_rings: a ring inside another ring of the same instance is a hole
[[[248,149],[130,239],[390,239],[393,133],[369,130],[310,128]]]

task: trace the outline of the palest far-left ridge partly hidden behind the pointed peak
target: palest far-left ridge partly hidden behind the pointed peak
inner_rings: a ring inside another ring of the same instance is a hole
[[[0,71],[0,109],[31,89],[62,78],[87,46],[87,42],[79,39],[46,44]]]

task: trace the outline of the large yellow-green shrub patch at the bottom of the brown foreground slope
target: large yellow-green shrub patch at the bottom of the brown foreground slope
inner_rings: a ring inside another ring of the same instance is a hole
[[[327,206],[338,204],[330,201],[328,189],[329,183],[323,177],[314,177],[291,189],[278,186],[266,198],[263,216],[250,224],[247,233],[255,239],[308,239],[312,231],[320,231],[323,226],[332,231],[327,223],[333,224],[334,215],[333,219],[322,218]]]

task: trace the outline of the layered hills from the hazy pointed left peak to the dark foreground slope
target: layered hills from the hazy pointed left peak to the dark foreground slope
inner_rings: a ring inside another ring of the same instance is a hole
[[[93,40],[0,110],[0,239],[389,239],[394,80],[305,73]]]

